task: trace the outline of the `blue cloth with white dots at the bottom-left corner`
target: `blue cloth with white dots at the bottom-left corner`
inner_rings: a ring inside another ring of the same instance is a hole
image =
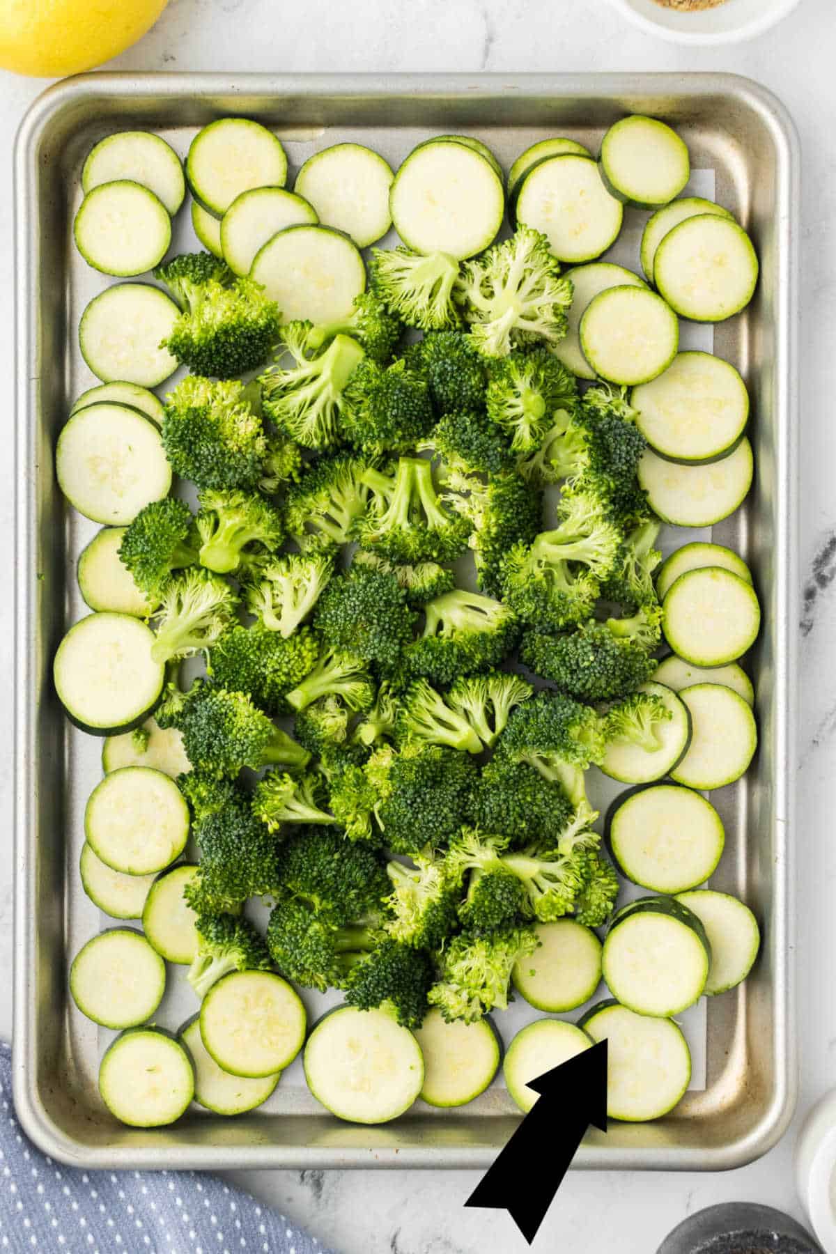
[[[0,1254],[328,1254],[283,1215],[198,1171],[80,1171],[41,1154],[0,1042]]]

